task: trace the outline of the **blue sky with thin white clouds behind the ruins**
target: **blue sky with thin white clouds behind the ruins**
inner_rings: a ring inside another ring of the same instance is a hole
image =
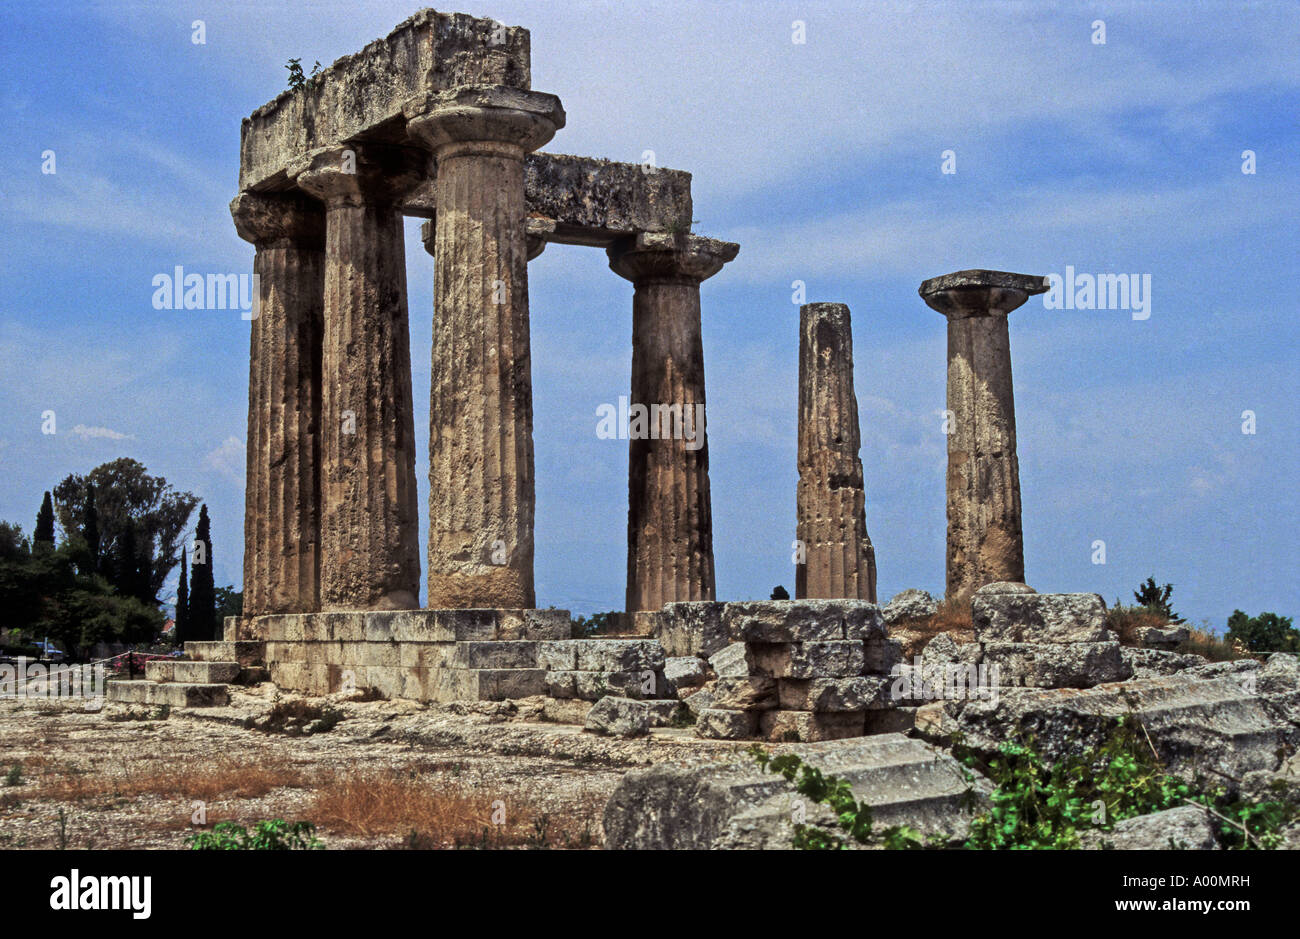
[[[251,271],[228,211],[240,118],[283,90],[289,57],[329,64],[415,9],[0,10],[0,519],[30,531],[44,489],[129,455],[208,502],[218,583],[239,583],[248,324],[153,310],[152,278]],[[720,598],[793,585],[793,281],[853,312],[885,598],[944,583],[945,332],[916,286],[1072,265],[1149,274],[1152,312],[1035,298],[1011,315],[1027,580],[1112,602],[1154,575],[1216,626],[1300,613],[1294,3],[460,9],[530,29],[533,87],[568,113],[546,150],[653,150],[694,174],[697,231],[741,245],[703,286]],[[407,234],[419,430],[433,265],[417,220]],[[529,280],[538,603],[618,609],[627,442],[599,440],[595,411],[628,390],[632,287],[569,246]]]

